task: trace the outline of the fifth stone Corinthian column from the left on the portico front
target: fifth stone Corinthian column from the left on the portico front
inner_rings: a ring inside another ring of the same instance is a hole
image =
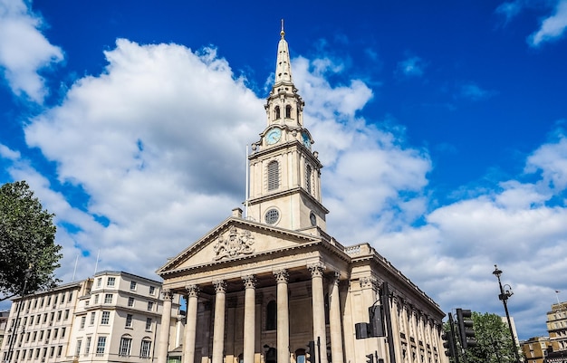
[[[277,282],[277,362],[290,363],[290,317],[287,301],[286,270],[274,271]],[[213,362],[215,363],[215,362]]]

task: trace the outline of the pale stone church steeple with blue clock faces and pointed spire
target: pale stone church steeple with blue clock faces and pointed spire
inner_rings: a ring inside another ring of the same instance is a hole
[[[283,22],[280,35],[274,86],[264,106],[266,126],[248,156],[246,217],[295,231],[325,231],[329,211],[321,199],[322,164],[303,127],[305,103],[293,85]]]

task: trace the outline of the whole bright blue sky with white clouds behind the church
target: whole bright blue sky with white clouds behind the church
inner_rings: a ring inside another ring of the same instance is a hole
[[[546,334],[567,300],[567,1],[191,3],[0,0],[0,183],[57,215],[62,280],[99,253],[157,278],[241,205],[284,18],[328,232],[445,311],[503,314],[497,263],[520,338]]]

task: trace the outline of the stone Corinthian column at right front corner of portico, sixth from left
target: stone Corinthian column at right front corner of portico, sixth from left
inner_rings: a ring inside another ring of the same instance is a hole
[[[307,266],[311,271],[312,282],[312,309],[313,309],[313,340],[319,341],[321,348],[316,349],[321,352],[318,363],[327,363],[327,333],[325,331],[325,298],[322,287],[322,273],[325,265],[322,263]]]

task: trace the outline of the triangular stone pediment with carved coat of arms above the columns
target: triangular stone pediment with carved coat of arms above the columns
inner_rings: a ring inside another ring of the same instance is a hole
[[[315,235],[230,217],[197,240],[195,244],[191,244],[170,259],[157,273],[163,275],[173,271],[187,271],[199,266],[210,267],[217,263],[283,252],[319,241],[321,237]]]

